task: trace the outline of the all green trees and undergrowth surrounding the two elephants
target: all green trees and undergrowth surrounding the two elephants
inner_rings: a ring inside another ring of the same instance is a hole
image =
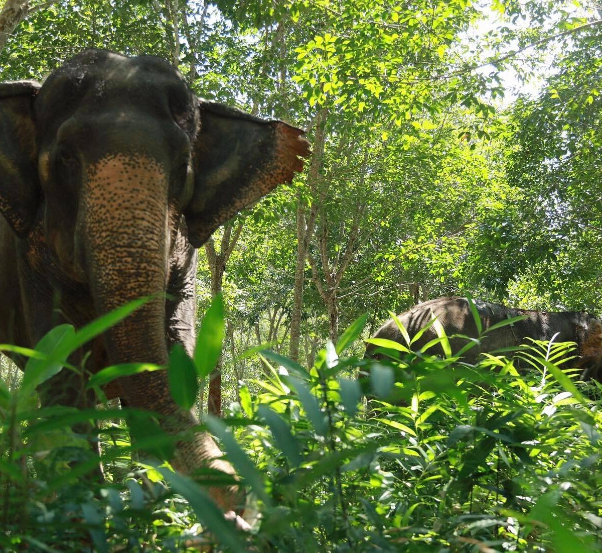
[[[200,250],[197,348],[217,369],[182,376],[191,400],[172,390],[206,414],[261,517],[233,531],[161,466],[173,444],[114,404],[96,413],[107,483],[45,462],[83,447],[73,420],[40,420],[37,381],[2,357],[2,551],[602,548],[600,384],[559,363],[570,346],[534,343],[528,372],[512,352],[362,359],[389,312],[438,296],[602,315],[599,2],[2,6],[2,81],[88,47],[166,58],[199,96],[312,142],[290,186]]]

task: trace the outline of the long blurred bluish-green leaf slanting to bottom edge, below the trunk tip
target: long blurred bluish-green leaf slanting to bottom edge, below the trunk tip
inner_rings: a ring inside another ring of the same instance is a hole
[[[211,530],[213,536],[229,551],[246,551],[247,548],[238,537],[234,524],[226,520],[222,511],[209,495],[194,480],[187,476],[172,472],[165,467],[157,470],[169,483],[170,487],[188,501],[194,514],[202,522],[203,527]]]

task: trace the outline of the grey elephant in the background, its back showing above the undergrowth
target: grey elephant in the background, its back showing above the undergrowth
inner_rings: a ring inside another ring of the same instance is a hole
[[[482,352],[494,352],[500,348],[520,346],[527,338],[533,340],[551,340],[554,334],[558,334],[555,342],[576,342],[579,355],[579,366],[583,369],[582,380],[594,378],[601,380],[602,366],[602,323],[590,314],[583,311],[561,311],[558,313],[547,313],[544,311],[530,311],[526,309],[515,309],[504,307],[504,305],[492,304],[479,299],[474,300],[477,313],[479,314],[483,332],[495,323],[511,317],[524,316],[526,319],[502,326],[487,333],[480,338],[480,346],[474,346],[464,352],[462,360],[474,364]],[[458,352],[468,340],[461,337],[451,337],[453,334],[462,334],[469,338],[479,337],[473,313],[466,298],[449,296],[431,299],[424,303],[415,305],[409,311],[399,315],[399,320],[408,331],[412,339],[418,331],[428,325],[432,317],[437,317],[447,336],[452,354]],[[384,323],[374,333],[374,338],[393,340],[393,342],[407,345],[396,322],[393,319]],[[430,340],[437,337],[433,326],[412,343],[414,351],[420,349]],[[378,346],[368,344],[365,357],[377,356]],[[430,353],[442,356],[443,350],[440,344],[429,349]]]

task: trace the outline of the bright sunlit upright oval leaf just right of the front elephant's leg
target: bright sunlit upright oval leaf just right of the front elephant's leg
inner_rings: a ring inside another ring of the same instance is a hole
[[[197,375],[203,380],[215,369],[217,360],[222,354],[224,337],[224,304],[218,294],[209,306],[200,325],[199,336],[194,349],[194,365]]]

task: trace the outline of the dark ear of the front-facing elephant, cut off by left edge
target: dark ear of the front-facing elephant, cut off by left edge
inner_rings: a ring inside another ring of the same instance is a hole
[[[0,83],[0,213],[24,236],[34,220],[40,188],[34,99],[36,81]]]

